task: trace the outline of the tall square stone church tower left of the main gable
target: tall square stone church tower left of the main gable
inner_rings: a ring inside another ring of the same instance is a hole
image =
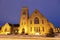
[[[19,33],[25,34],[27,33],[27,21],[28,21],[28,8],[22,7],[21,15],[20,15],[20,27],[19,27]]]

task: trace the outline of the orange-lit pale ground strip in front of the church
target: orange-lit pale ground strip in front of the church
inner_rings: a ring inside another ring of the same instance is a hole
[[[34,35],[0,35],[0,40],[60,40],[60,34],[55,37],[41,37]]]

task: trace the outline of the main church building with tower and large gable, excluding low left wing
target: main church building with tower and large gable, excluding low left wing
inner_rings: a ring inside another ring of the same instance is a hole
[[[22,7],[20,15],[19,34],[45,35],[49,33],[50,28],[55,32],[54,25],[49,22],[45,16],[35,9],[29,17],[29,9]]]

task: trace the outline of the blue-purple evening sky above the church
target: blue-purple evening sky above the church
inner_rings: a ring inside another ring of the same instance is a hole
[[[38,9],[55,26],[60,26],[60,0],[0,0],[0,25],[19,23],[23,6],[29,8],[30,15]]]

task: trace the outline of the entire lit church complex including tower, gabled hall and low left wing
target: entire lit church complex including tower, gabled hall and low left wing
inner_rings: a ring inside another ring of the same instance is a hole
[[[13,26],[6,23],[1,27],[0,34],[45,35],[49,33],[51,28],[55,32],[54,25],[39,10],[35,9],[29,16],[29,9],[27,7],[22,7],[19,25]]]

